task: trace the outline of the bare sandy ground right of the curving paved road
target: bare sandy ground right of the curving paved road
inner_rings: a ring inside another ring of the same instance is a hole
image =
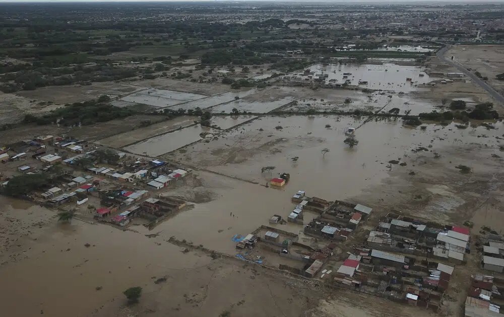
[[[479,71],[488,77],[490,84],[500,94],[504,94],[504,81],[495,75],[504,72],[504,46],[502,45],[458,45],[452,47],[447,56],[454,56],[466,68]]]

